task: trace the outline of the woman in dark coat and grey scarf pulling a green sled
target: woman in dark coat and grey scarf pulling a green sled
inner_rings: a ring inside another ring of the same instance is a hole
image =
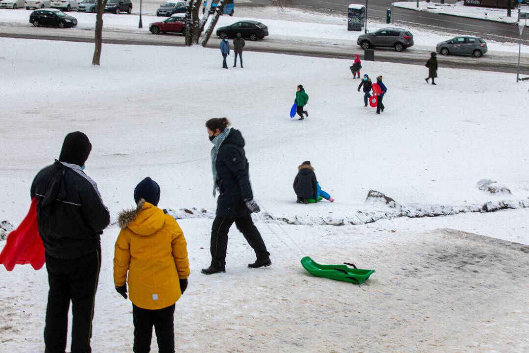
[[[220,191],[217,213],[211,229],[211,266],[202,269],[205,275],[225,272],[228,232],[233,223],[256,252],[257,260],[250,268],[268,267],[272,264],[270,253],[251,214],[260,212],[250,185],[249,164],[244,153],[244,139],[239,130],[228,127],[225,117],[206,122],[213,171],[213,196]]]

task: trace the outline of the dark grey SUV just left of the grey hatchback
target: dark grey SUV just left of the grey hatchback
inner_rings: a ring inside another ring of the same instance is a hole
[[[360,35],[357,44],[364,50],[371,47],[393,47],[396,51],[403,51],[413,46],[413,34],[402,28],[383,28]]]

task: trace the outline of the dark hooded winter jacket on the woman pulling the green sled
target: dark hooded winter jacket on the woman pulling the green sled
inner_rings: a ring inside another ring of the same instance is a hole
[[[244,139],[239,130],[231,129],[217,153],[215,162],[217,185],[217,216],[236,218],[252,212],[244,200],[253,198],[249,164],[244,153]]]

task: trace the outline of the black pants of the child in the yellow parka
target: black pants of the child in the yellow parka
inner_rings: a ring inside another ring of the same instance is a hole
[[[159,310],[142,309],[132,304],[134,353],[149,353],[153,325],[159,353],[175,353],[174,316],[175,304]]]

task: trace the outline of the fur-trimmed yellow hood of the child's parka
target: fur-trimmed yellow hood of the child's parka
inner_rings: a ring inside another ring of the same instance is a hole
[[[135,209],[123,210],[120,213],[118,224],[121,229],[129,228],[140,236],[150,236],[162,229],[165,214],[142,198]]]

